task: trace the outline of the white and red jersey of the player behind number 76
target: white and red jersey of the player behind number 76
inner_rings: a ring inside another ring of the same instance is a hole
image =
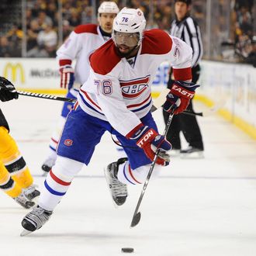
[[[108,39],[102,36],[96,24],[77,26],[57,50],[57,60],[64,66],[76,59],[74,78],[75,82],[82,85],[90,71],[88,57]]]

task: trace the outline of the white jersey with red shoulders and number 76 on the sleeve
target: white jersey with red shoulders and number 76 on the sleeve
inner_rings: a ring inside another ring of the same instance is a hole
[[[144,32],[133,66],[119,57],[112,40],[107,41],[90,57],[90,75],[81,86],[79,106],[126,136],[150,112],[150,87],[163,61],[170,62],[175,80],[192,78],[192,48],[161,29]]]

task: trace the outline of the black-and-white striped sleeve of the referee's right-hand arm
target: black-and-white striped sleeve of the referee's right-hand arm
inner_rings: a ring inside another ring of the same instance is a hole
[[[185,43],[188,43],[192,47],[192,67],[195,67],[202,59],[202,37],[199,26],[191,17],[185,20],[183,36]]]

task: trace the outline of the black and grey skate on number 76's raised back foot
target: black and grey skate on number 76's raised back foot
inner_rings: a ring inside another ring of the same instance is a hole
[[[126,202],[127,197],[127,185],[119,182],[117,179],[117,172],[119,164],[123,164],[128,159],[126,157],[119,158],[118,161],[109,164],[105,168],[106,182],[109,186],[109,190],[112,195],[112,199],[117,206],[122,206]]]

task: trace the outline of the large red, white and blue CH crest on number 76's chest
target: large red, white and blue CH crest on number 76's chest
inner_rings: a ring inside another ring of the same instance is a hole
[[[123,98],[135,99],[148,88],[150,75],[145,78],[137,78],[129,81],[120,81]]]

